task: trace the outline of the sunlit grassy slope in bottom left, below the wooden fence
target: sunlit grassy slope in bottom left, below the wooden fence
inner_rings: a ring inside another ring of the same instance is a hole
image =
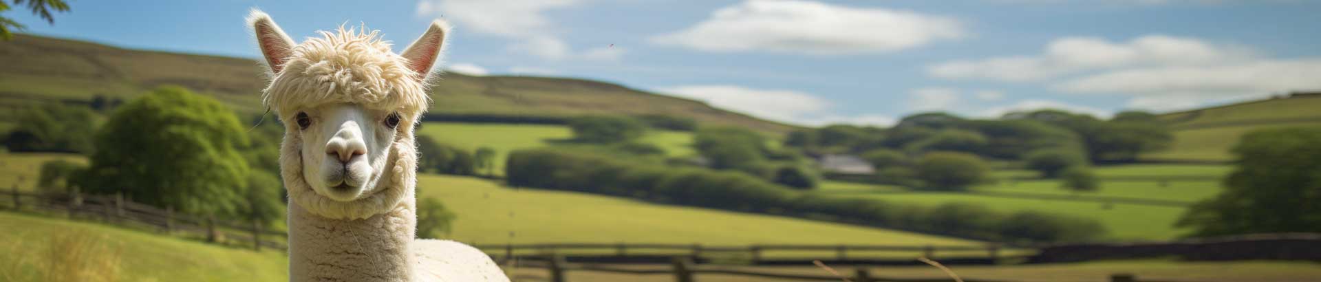
[[[91,260],[106,281],[288,281],[283,252],[252,252],[94,223],[0,212],[0,281],[44,281],[48,271],[74,271]],[[70,244],[77,241],[91,244]],[[100,246],[82,252],[77,246]],[[114,253],[118,253],[118,260]],[[95,265],[102,264],[102,265]]]

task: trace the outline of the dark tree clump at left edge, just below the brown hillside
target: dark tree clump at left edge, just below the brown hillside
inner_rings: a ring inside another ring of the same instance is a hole
[[[9,152],[90,153],[94,116],[86,107],[63,104],[21,109],[5,146]]]

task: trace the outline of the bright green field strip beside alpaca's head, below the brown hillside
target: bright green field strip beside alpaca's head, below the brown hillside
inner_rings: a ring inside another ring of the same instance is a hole
[[[417,134],[469,150],[481,146],[495,149],[497,175],[505,174],[505,157],[509,152],[548,146],[573,137],[573,132],[564,125],[465,123],[423,123]],[[692,133],[688,132],[651,130],[639,141],[660,146],[668,155],[695,154],[688,146],[692,142]]]

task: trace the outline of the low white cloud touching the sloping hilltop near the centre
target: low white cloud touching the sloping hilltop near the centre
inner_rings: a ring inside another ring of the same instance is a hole
[[[790,90],[756,90],[741,86],[675,86],[657,92],[701,100],[712,107],[748,113],[768,120],[804,124],[890,125],[893,117],[878,115],[844,116],[831,113],[832,103],[816,95]]]

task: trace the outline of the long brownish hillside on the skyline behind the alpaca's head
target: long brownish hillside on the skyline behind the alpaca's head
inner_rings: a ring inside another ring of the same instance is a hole
[[[209,94],[260,113],[258,62],[243,58],[129,50],[85,41],[17,34],[0,43],[0,107],[25,100],[86,103],[94,95],[132,98],[161,84]],[[794,125],[712,108],[701,101],[569,78],[445,74],[432,88],[432,113],[573,116],[663,113],[701,123],[783,133]]]

